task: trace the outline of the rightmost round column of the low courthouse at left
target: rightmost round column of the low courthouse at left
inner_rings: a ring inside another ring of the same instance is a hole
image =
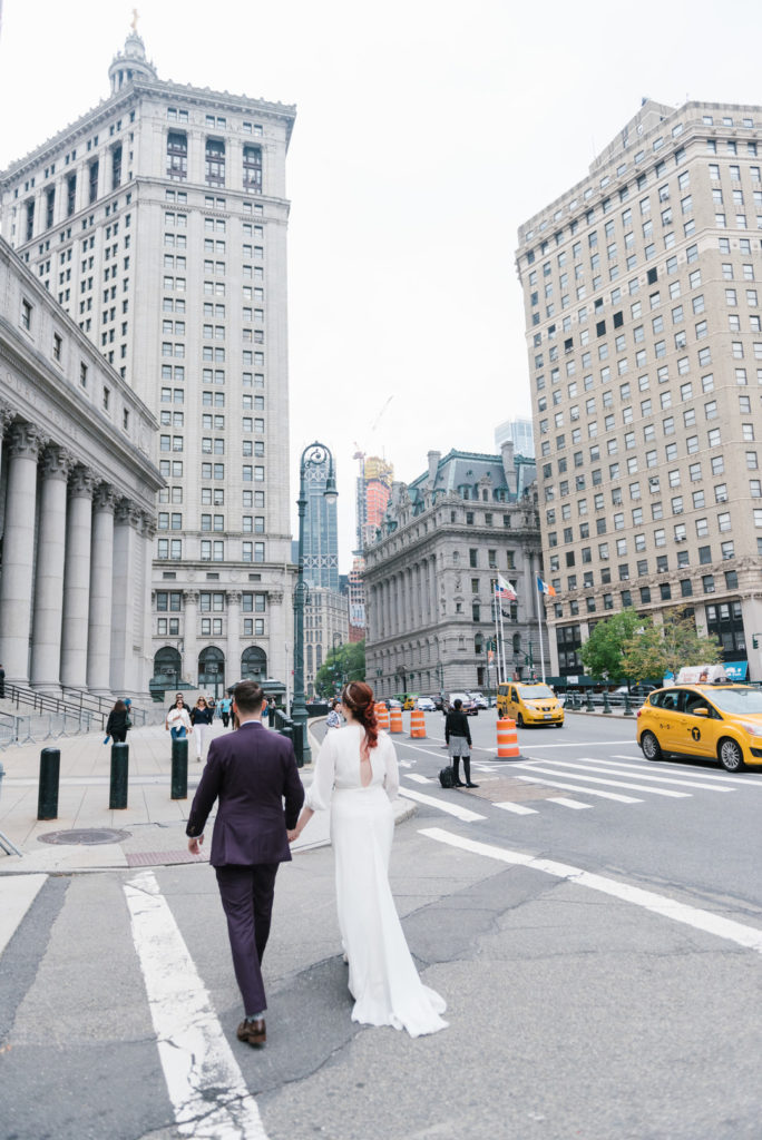
[[[143,512],[131,499],[120,499],[114,512],[114,562],[111,611],[111,690],[117,697],[137,695],[136,611],[143,621],[145,598],[139,588]],[[140,630],[141,632],[141,630]]]

